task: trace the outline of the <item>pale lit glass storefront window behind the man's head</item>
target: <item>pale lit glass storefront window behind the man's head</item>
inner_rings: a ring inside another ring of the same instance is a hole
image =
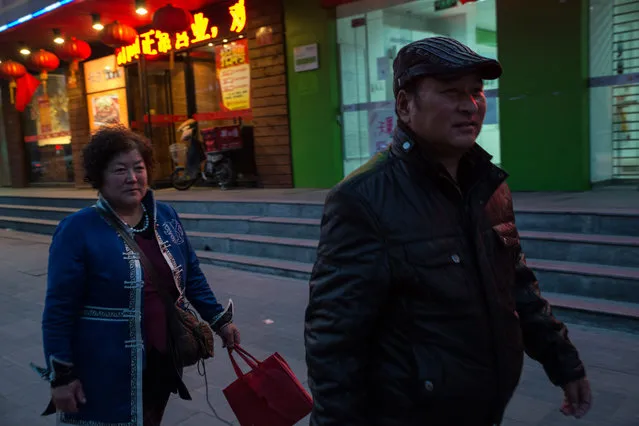
[[[435,10],[434,0],[365,0],[338,7],[344,173],[387,146],[396,123],[393,59],[415,40],[444,35],[497,58],[495,0]],[[486,82],[488,113],[478,143],[500,163],[497,81]]]

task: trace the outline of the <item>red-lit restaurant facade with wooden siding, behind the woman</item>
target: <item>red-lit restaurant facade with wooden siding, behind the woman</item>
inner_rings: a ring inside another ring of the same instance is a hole
[[[146,14],[136,13],[140,5]],[[3,185],[86,187],[82,148],[92,132],[112,123],[151,139],[154,180],[167,185],[174,169],[169,146],[179,141],[179,125],[193,118],[200,131],[229,129],[230,135],[238,130],[247,149],[233,155],[243,164],[238,171],[252,175],[244,177],[263,187],[292,186],[281,2],[174,2],[194,19],[175,35],[153,28],[152,12],[165,5],[67,0],[27,15],[34,18],[0,26],[5,60],[29,64],[39,49],[57,52],[60,36],[65,43],[82,39],[92,50],[73,79],[69,63],[50,70],[46,90],[40,84],[22,112],[10,101],[7,82],[3,85],[0,165],[9,175]],[[116,22],[135,28],[135,42],[102,42],[107,31],[102,27]],[[25,48],[32,53],[21,54]]]

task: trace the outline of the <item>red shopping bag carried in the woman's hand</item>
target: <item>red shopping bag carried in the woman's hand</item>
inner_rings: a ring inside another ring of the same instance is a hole
[[[239,346],[235,351],[251,371],[242,373],[229,351],[238,378],[223,392],[241,426],[293,426],[311,412],[311,396],[280,354],[258,361]]]

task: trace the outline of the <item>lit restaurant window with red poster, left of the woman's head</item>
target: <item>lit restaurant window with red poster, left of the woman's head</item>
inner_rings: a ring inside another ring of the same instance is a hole
[[[66,78],[49,74],[47,93],[38,86],[22,114],[31,183],[73,182]]]

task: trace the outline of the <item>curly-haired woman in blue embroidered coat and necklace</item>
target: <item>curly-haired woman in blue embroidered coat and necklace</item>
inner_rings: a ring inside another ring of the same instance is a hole
[[[239,343],[232,304],[224,309],[216,300],[176,211],[154,200],[149,141],[109,127],[83,154],[100,196],[64,219],[51,243],[42,320],[48,411],[58,411],[59,425],[159,425],[171,393],[190,395],[167,349],[167,311],[156,286],[190,302],[229,347]],[[115,213],[155,274],[144,273],[96,208]]]

